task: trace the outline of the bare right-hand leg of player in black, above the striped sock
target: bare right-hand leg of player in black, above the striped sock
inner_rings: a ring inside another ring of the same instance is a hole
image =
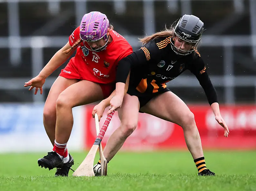
[[[155,110],[156,106],[158,110]],[[143,106],[141,111],[180,125],[193,159],[204,156],[194,114],[177,95],[172,92],[160,94]]]

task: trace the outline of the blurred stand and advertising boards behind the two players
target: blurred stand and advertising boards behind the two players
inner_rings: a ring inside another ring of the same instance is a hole
[[[183,14],[204,21],[200,54],[216,88],[230,129],[223,137],[197,79],[189,71],[168,87],[195,114],[204,149],[256,148],[256,1],[254,0],[0,0],[0,152],[50,151],[43,128],[43,104],[62,67],[46,79],[43,95],[24,82],[35,77],[90,11],[105,13],[134,50],[138,37],[170,26]],[[165,100],[168,101],[168,100]],[[70,151],[90,148],[95,137],[93,105],[74,108]],[[157,109],[157,108],[156,108]],[[107,138],[117,128],[115,114]],[[33,143],[33,144],[31,144]],[[140,114],[123,150],[185,149],[180,127]]]

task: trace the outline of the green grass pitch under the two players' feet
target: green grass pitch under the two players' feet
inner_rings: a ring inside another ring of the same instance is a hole
[[[71,153],[73,169],[85,153]],[[37,165],[39,154],[0,154],[0,191],[4,190],[256,190],[256,152],[205,152],[215,177],[199,177],[185,152],[118,153],[107,177],[54,177],[55,170]],[[97,159],[99,156],[97,156]],[[96,162],[96,161],[95,161]]]

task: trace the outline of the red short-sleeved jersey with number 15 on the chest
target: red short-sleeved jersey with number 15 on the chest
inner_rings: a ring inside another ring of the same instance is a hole
[[[75,57],[71,58],[72,70],[63,70],[66,78],[78,78],[100,84],[115,83],[118,62],[131,54],[132,47],[127,40],[114,30],[110,30],[112,41],[100,52],[88,50],[83,42],[77,48]],[[69,37],[69,44],[80,39],[80,27],[77,27]],[[86,43],[86,42],[85,42]],[[71,67],[68,67],[71,68]],[[72,74],[73,73],[73,74]],[[75,73],[79,73],[75,75]]]

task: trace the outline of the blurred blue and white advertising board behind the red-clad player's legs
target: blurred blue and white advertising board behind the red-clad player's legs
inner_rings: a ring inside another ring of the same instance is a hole
[[[51,151],[43,127],[44,104],[0,104],[0,153]],[[74,126],[69,141],[71,150],[83,148],[82,107],[73,109]]]

